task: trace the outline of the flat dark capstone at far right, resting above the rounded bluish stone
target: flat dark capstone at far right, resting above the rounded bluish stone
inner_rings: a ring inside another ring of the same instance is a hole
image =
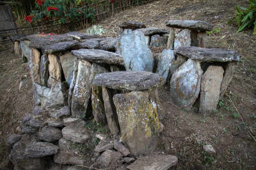
[[[241,56],[233,50],[206,49],[199,47],[179,47],[176,53],[192,60],[233,63],[238,62]]]

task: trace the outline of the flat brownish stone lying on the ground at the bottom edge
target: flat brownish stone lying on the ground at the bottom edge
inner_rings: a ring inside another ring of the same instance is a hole
[[[127,166],[130,170],[167,170],[178,162],[178,158],[172,155],[154,155],[137,159],[133,164]],[[147,161],[145,161],[147,160]]]

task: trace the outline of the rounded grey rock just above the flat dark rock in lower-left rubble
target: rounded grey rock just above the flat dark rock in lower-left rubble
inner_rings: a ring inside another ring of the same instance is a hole
[[[52,126],[45,126],[39,132],[39,139],[46,142],[56,142],[62,138],[61,131],[58,128]]]

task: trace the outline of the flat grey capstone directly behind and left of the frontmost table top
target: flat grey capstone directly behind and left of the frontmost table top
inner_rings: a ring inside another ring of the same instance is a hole
[[[73,50],[73,55],[80,57],[83,60],[99,63],[99,64],[122,64],[123,59],[120,55],[104,50],[80,49]]]

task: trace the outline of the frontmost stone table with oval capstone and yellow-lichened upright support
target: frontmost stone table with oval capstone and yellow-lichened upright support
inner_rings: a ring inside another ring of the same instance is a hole
[[[116,71],[95,75],[92,84],[103,87],[105,112],[111,133],[120,126],[122,141],[133,155],[148,154],[156,148],[158,117],[164,117],[156,88],[165,81],[161,75],[146,71]],[[125,90],[127,93],[115,94],[114,90]]]

